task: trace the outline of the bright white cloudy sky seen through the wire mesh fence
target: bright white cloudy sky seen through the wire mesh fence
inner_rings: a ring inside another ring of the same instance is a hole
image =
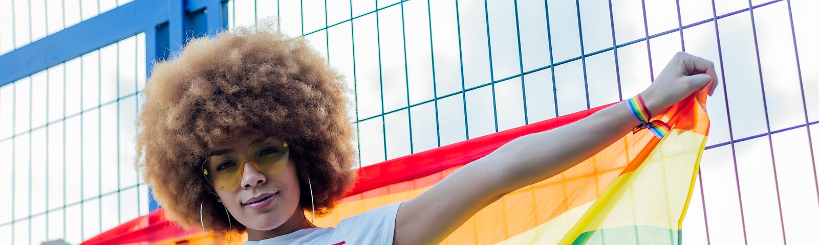
[[[0,0],[0,54],[125,2],[100,0],[97,7],[93,0]],[[360,121],[360,141],[355,144],[362,166],[634,96],[648,87],[652,73],[658,74],[683,50],[681,33],[675,31],[680,25],[677,3],[670,0],[645,1],[647,27],[640,0],[612,0],[611,13],[606,0],[581,0],[579,7],[575,1],[554,0],[545,6],[544,1],[519,0],[517,22],[512,1],[488,1],[484,6],[482,1],[461,0],[457,16],[451,0],[429,1],[429,8],[427,1],[410,0],[403,3],[403,16],[400,4],[387,7],[396,1],[328,0],[326,8],[322,0],[301,2],[304,7],[300,1],[232,0],[229,26],[253,25],[278,15],[285,33],[310,33],[305,38],[350,87],[351,122]],[[679,1],[681,24],[713,19],[711,4]],[[819,120],[819,3],[790,4],[802,87],[788,2],[754,9],[753,23],[749,11],[718,20],[719,47],[713,21],[683,30],[685,50],[713,60],[724,82],[709,99],[712,127],[707,145],[804,125],[806,114],[808,122]],[[377,7],[383,9],[369,13]],[[749,2],[717,0],[715,7],[716,15],[723,16],[748,8]],[[346,21],[351,16],[360,17]],[[563,62],[581,56],[581,49],[589,54],[612,47],[613,40],[619,45],[645,38],[646,30],[649,35],[673,32],[618,47],[617,60],[613,51],[605,51]],[[14,175],[14,188],[0,189],[0,199],[12,200],[0,204],[0,210],[7,211],[0,212],[0,239],[10,238],[10,222],[19,220],[14,225],[16,244],[29,243],[29,226],[31,243],[64,237],[79,243],[147,213],[147,191],[144,185],[133,188],[139,180],[131,167],[139,99],[134,92],[145,81],[145,62],[140,60],[145,42],[139,34],[0,87],[0,161],[14,164],[14,171],[0,172],[2,186],[11,186]],[[553,63],[561,65],[554,71],[541,69]],[[505,79],[536,69],[541,70]],[[486,85],[493,80],[503,81]],[[470,90],[473,87],[479,88]],[[389,114],[380,116],[385,112]],[[46,122],[48,127],[43,127]],[[813,125],[811,131],[813,153],[819,155],[819,127]],[[683,224],[686,243],[707,243],[703,207],[713,244],[742,243],[744,235],[748,243],[782,243],[780,220],[788,242],[813,241],[812,231],[819,229],[819,198],[808,137],[806,127],[798,127],[775,133],[770,141],[762,136],[733,148],[706,150]],[[124,189],[119,196],[118,189]],[[82,207],[63,209],[80,200]],[[38,215],[46,210],[48,216]]]

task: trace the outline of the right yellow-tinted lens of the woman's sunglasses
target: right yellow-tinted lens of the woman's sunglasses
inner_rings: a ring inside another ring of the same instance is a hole
[[[251,158],[259,171],[267,176],[278,175],[284,170],[288,157],[287,143],[276,136],[251,146]]]

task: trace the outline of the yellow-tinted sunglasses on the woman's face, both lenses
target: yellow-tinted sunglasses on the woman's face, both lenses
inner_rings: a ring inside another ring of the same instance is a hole
[[[287,163],[287,142],[278,136],[251,145],[247,154],[235,152],[211,156],[202,163],[202,174],[214,188],[235,189],[242,182],[245,162],[266,176],[278,175]]]

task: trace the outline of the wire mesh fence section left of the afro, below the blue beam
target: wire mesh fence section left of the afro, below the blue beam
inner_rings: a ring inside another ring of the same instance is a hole
[[[0,239],[80,243],[146,215],[133,168],[138,34],[0,87]]]

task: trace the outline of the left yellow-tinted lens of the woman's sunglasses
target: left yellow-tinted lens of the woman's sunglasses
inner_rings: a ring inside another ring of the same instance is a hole
[[[242,166],[237,154],[213,156],[202,164],[202,174],[213,187],[230,190],[242,180]]]

